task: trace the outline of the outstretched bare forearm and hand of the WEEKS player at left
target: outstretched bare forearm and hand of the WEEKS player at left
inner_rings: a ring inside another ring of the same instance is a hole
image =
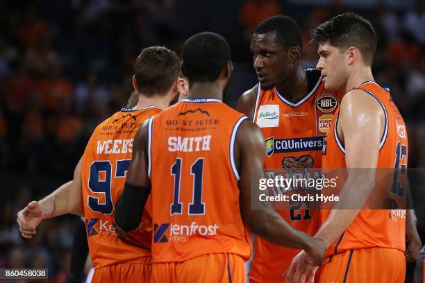
[[[43,219],[72,213],[83,216],[81,192],[81,160],[74,170],[72,181],[65,183],[42,200],[32,201],[17,213],[17,223],[22,237],[31,239]]]

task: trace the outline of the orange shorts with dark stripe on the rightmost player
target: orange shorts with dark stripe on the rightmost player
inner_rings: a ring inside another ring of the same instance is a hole
[[[403,283],[406,273],[404,253],[394,248],[346,250],[326,259],[320,283]]]

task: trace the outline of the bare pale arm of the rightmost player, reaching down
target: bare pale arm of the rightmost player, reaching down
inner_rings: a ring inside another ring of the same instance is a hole
[[[349,227],[375,187],[379,146],[385,127],[383,109],[376,98],[361,89],[353,89],[342,99],[338,126],[338,134],[345,145],[348,177],[340,191],[340,201],[333,205],[315,235],[324,239],[326,248]]]

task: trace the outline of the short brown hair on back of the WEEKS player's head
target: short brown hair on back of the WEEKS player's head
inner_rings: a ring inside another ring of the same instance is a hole
[[[180,76],[180,60],[174,51],[163,46],[143,49],[134,63],[139,92],[151,97],[165,95]]]

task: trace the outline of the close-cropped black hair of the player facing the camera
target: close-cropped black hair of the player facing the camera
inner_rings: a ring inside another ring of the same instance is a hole
[[[286,16],[274,16],[265,19],[258,24],[254,33],[276,33],[276,43],[281,44],[285,49],[293,46],[299,46],[303,49],[303,36],[297,22]]]

